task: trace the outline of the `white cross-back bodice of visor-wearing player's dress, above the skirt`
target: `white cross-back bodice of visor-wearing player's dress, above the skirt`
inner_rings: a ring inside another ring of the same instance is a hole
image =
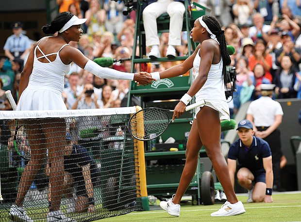
[[[40,43],[43,40],[40,41]],[[39,44],[40,44],[39,43]],[[62,94],[64,89],[64,77],[70,71],[71,64],[64,64],[61,61],[59,52],[68,44],[63,45],[57,52],[45,55],[39,48],[39,44],[34,48],[33,71],[28,83],[28,89],[44,89],[50,90],[53,93]],[[36,57],[36,50],[39,50],[43,56]],[[51,62],[48,58],[50,55],[55,55],[56,58]],[[42,63],[38,59],[46,58],[49,63]]]

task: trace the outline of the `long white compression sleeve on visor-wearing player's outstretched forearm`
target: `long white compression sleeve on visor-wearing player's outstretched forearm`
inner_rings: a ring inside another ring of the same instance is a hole
[[[134,73],[120,72],[115,69],[101,67],[92,60],[88,60],[84,69],[88,72],[93,73],[101,79],[122,79],[122,80],[133,80]]]

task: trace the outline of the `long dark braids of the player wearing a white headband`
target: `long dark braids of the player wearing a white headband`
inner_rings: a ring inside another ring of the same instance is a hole
[[[224,79],[224,84],[227,84],[227,71],[226,66],[230,65],[231,58],[227,50],[227,43],[226,37],[223,30],[221,30],[219,21],[214,16],[203,16],[203,22],[206,23],[208,29],[216,35],[217,41],[219,42],[219,50],[221,58],[223,59],[223,69],[222,69],[222,76]]]

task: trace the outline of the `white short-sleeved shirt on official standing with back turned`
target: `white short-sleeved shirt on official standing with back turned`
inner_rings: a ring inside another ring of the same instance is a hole
[[[275,122],[276,115],[283,115],[283,110],[279,102],[261,96],[250,103],[247,114],[253,116],[255,127],[269,127]]]

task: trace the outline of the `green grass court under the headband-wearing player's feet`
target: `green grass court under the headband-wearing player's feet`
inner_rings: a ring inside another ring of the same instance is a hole
[[[98,220],[96,222],[287,222],[301,221],[301,193],[274,194],[273,203],[246,203],[247,195],[238,196],[246,213],[232,217],[211,217],[210,213],[221,204],[211,206],[181,205],[180,217],[172,217],[163,210],[132,212],[130,214]],[[158,204],[158,203],[157,203]]]

